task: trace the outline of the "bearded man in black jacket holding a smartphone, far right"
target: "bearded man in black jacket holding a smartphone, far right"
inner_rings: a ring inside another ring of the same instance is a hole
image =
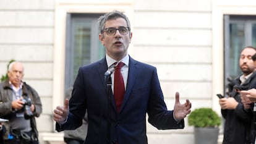
[[[256,83],[256,72],[252,56],[256,49],[247,46],[241,51],[239,66],[242,74],[233,80],[231,95],[220,98],[221,114],[225,119],[223,144],[250,144],[252,111],[250,105],[243,105],[239,90],[249,90]],[[236,90],[236,89],[237,90]]]

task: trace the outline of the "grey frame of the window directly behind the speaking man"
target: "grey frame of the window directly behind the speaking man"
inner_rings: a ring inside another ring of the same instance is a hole
[[[103,14],[77,14],[77,13],[68,13],[67,14],[67,27],[66,27],[66,48],[65,48],[65,84],[64,90],[68,90],[69,87],[72,87],[74,84],[74,47],[75,47],[75,32],[74,32],[74,22],[77,20],[85,21],[88,20],[91,23],[90,30],[90,63],[99,60],[98,53],[103,46],[98,40],[98,34],[100,33],[98,27],[98,17]],[[102,57],[100,57],[102,58]],[[86,65],[86,64],[82,64]],[[77,69],[78,71],[78,69]]]

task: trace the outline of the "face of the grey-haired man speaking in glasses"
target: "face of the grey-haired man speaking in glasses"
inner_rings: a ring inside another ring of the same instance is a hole
[[[114,20],[108,20],[105,23],[105,28],[119,28],[119,27],[127,27],[126,20],[122,18],[117,18]],[[104,36],[102,34],[99,35],[100,41],[106,48],[106,53],[108,56],[113,59],[119,60],[122,59],[127,54],[127,49],[129,47],[130,40],[132,38],[132,33],[127,33],[127,35],[121,35],[119,30],[116,30],[114,35],[108,35],[104,32]]]

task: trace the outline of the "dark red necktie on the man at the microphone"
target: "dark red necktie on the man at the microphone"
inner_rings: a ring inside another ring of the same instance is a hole
[[[124,63],[119,62],[114,70],[114,100],[116,101],[117,112],[119,112],[124,98],[124,79],[121,74],[122,66],[124,66]]]

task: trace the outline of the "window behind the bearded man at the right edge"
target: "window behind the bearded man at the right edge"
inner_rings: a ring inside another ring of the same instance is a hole
[[[256,16],[224,15],[224,82],[242,74],[239,56],[245,46],[256,46]]]

